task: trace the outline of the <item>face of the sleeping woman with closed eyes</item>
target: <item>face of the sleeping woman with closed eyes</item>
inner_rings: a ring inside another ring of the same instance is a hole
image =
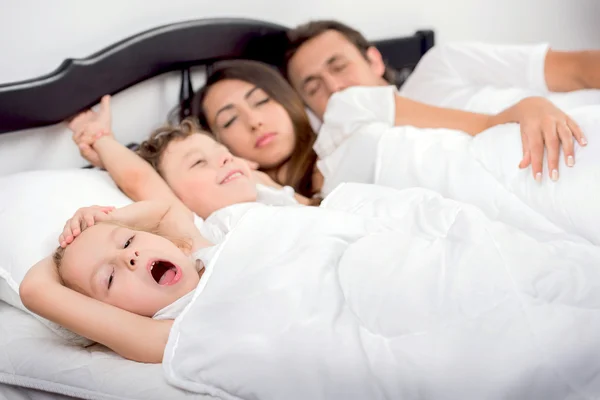
[[[296,135],[289,114],[251,83],[217,82],[208,90],[203,109],[218,140],[263,169],[280,166],[294,151]]]

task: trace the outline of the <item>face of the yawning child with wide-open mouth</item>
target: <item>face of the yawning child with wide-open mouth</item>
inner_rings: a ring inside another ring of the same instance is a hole
[[[146,317],[200,280],[195,261],[171,241],[108,223],[91,226],[67,246],[59,273],[66,286]]]

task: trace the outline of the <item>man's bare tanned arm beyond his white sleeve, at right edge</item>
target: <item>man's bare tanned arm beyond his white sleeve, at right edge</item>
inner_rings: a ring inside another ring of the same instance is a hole
[[[552,92],[600,89],[600,50],[549,50],[544,73]]]

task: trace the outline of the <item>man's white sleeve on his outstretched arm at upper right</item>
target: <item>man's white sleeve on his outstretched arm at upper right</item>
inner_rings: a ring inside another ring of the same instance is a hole
[[[548,44],[493,45],[455,43],[427,52],[400,90],[400,95],[436,106],[491,111],[489,108],[532,95],[548,94],[544,64]],[[486,97],[482,95],[485,91]],[[496,97],[496,99],[494,99]],[[480,109],[477,109],[477,107]]]

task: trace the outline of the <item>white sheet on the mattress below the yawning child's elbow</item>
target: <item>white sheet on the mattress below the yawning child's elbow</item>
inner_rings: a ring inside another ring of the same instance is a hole
[[[68,345],[35,318],[4,302],[0,302],[0,384],[0,395],[8,399],[19,393],[15,387],[34,389],[19,395],[35,400],[63,400],[64,396],[89,400],[212,399],[169,385],[160,364],[128,361],[101,346],[84,349]],[[44,392],[62,397],[44,396]]]

